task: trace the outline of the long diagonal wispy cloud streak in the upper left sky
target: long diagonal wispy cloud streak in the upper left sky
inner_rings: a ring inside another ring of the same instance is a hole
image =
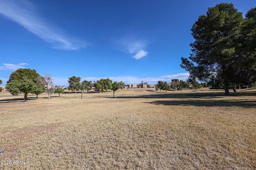
[[[47,23],[37,14],[34,5],[29,1],[0,0],[0,14],[51,43],[53,48],[78,50],[88,45],[81,40],[67,37],[59,28]]]

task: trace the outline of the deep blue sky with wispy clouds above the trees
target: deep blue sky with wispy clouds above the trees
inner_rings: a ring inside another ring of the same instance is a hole
[[[246,13],[255,1],[13,1],[0,0],[0,79],[19,68],[126,83],[188,76],[190,29],[207,7],[232,2]]]

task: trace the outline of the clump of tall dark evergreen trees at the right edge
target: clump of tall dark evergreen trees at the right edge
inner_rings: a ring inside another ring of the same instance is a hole
[[[181,58],[181,67],[191,79],[223,87],[252,86],[256,81],[256,8],[243,18],[233,4],[210,7],[194,23],[191,54]]]

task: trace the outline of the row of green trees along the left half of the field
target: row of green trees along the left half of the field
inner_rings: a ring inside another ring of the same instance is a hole
[[[83,98],[84,91],[89,92],[93,87],[96,91],[110,91],[113,90],[113,97],[115,97],[115,91],[124,88],[124,82],[112,82],[110,79],[100,79],[98,81],[81,81],[80,77],[68,78],[68,90],[81,92],[81,98]],[[0,80],[2,84],[2,80]],[[31,69],[18,69],[10,75],[9,80],[6,83],[6,90],[13,96],[17,96],[21,93],[24,94],[24,101],[27,101],[28,94],[35,94],[36,98],[39,94],[46,92],[48,99],[51,99],[52,94],[63,94],[65,92],[63,87],[54,86],[51,75],[46,74],[43,77],[39,75],[36,70]],[[2,88],[0,88],[2,91]]]

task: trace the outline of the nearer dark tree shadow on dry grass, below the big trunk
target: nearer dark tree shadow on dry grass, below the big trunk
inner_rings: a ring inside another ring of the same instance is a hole
[[[205,106],[205,107],[244,107],[256,108],[256,100],[156,100],[146,102],[154,105],[165,106]]]

